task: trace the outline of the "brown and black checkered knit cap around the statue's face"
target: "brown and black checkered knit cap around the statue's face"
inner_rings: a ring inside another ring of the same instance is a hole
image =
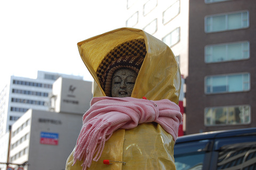
[[[119,44],[101,61],[96,73],[106,96],[111,96],[112,77],[119,68],[140,71],[147,50],[144,39],[133,39]]]

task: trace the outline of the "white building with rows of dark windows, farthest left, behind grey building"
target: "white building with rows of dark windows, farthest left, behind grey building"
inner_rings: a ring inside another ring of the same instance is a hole
[[[38,71],[37,79],[11,76],[0,93],[0,136],[28,109],[48,110],[52,84],[59,77],[83,79],[46,71]]]

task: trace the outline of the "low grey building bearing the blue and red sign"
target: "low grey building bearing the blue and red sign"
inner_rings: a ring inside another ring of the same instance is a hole
[[[24,169],[65,169],[81,127],[82,114],[28,110],[13,124],[10,163],[26,163]]]

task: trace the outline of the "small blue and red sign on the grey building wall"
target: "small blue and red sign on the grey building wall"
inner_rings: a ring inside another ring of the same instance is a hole
[[[41,132],[40,136],[41,144],[58,145],[59,143],[58,133]]]

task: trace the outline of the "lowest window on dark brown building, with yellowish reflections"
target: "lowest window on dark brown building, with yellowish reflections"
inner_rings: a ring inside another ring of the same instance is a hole
[[[249,105],[212,107],[204,110],[204,124],[211,125],[240,125],[251,123]]]

